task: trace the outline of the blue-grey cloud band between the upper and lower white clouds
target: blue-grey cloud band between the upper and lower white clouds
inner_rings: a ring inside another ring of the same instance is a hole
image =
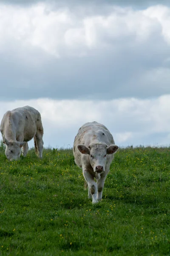
[[[96,51],[83,58],[45,58],[44,53],[39,52],[37,58],[43,64],[37,66],[34,58],[29,63],[17,56],[11,58],[1,54],[3,86],[0,99],[144,98],[170,93],[170,76],[165,76],[170,69],[167,64],[162,64],[168,47],[163,41],[158,40],[154,45],[147,42],[134,48],[124,45],[122,48],[116,54],[108,50],[98,55]],[[30,54],[33,55],[34,51]],[[155,80],[154,70],[160,65],[162,73]]]

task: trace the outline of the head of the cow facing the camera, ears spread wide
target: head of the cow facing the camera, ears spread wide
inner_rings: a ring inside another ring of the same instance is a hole
[[[114,154],[118,146],[110,145],[109,147],[105,143],[92,143],[88,146],[78,145],[77,148],[82,154],[89,154],[91,166],[94,172],[105,172],[107,154]]]

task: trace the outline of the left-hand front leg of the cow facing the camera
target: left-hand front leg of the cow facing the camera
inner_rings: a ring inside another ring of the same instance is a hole
[[[83,172],[83,176],[85,177],[85,180],[88,183],[88,196],[90,193],[92,196],[92,203],[96,204],[96,203],[98,203],[98,201],[97,201],[97,185],[96,185],[96,182],[94,181],[94,177],[86,169],[83,169],[82,172]]]

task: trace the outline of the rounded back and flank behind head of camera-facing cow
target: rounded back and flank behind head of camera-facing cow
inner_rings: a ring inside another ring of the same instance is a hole
[[[88,122],[79,128],[74,139],[73,154],[75,162],[82,167],[81,153],[77,145],[83,144],[88,147],[91,143],[106,143],[108,146],[114,144],[113,136],[108,128],[98,122]]]

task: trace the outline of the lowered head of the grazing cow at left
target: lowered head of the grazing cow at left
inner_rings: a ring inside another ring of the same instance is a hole
[[[25,142],[8,141],[5,136],[3,136],[3,143],[6,144],[5,154],[8,160],[19,160],[21,155],[21,148]]]

